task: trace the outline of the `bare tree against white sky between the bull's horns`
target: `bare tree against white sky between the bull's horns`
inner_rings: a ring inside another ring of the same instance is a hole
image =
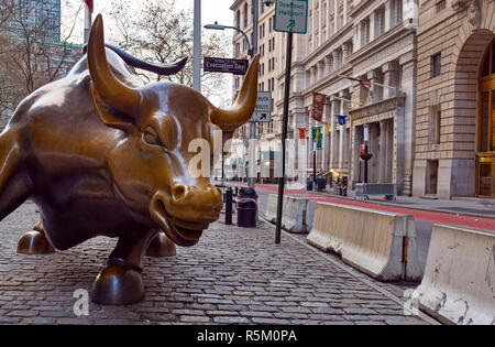
[[[131,1],[112,1],[110,15],[113,44],[141,58],[172,63],[187,56],[186,67],[173,76],[143,74],[147,80],[172,80],[193,86],[193,15],[178,10],[173,0],[150,0],[135,9]],[[132,9],[132,10],[130,10]],[[230,53],[230,42],[216,33],[204,33],[201,53],[204,56],[224,57]],[[201,62],[202,63],[202,62]],[[221,74],[201,73],[202,93],[209,95],[224,88]],[[230,88],[227,88],[230,91]],[[222,90],[226,94],[226,90]]]

